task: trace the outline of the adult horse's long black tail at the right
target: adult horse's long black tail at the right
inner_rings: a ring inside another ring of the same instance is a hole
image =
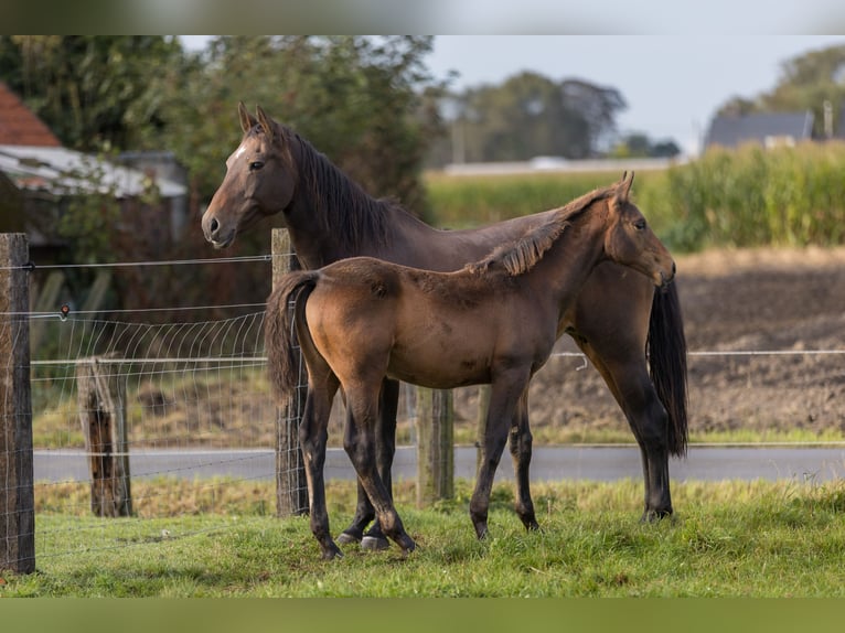
[[[668,414],[668,450],[686,454],[686,337],[674,283],[654,292],[646,343],[651,379]]]

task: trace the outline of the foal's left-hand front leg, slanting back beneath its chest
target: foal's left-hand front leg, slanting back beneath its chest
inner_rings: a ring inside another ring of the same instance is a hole
[[[491,385],[484,440],[475,479],[475,490],[470,500],[470,518],[475,536],[484,538],[488,533],[490,493],[499,461],[507,443],[507,427],[515,419],[523,393],[528,386],[528,369],[510,369],[500,373]]]

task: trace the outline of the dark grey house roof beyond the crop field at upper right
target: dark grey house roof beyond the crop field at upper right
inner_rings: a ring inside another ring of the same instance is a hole
[[[716,117],[707,132],[706,147],[734,148],[746,142],[769,146],[772,142],[798,142],[812,138],[813,112],[756,112]]]

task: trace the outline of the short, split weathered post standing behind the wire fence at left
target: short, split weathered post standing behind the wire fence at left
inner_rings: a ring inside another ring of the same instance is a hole
[[[97,516],[131,516],[126,383],[107,358],[76,362],[76,391],[90,465],[90,509]]]

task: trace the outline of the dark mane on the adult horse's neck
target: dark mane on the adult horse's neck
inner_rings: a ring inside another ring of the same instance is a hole
[[[308,140],[285,126],[279,128],[288,142],[299,143],[300,181],[308,187],[321,227],[330,230],[350,254],[357,253],[365,242],[385,243],[385,210],[405,210],[394,200],[372,197]]]

